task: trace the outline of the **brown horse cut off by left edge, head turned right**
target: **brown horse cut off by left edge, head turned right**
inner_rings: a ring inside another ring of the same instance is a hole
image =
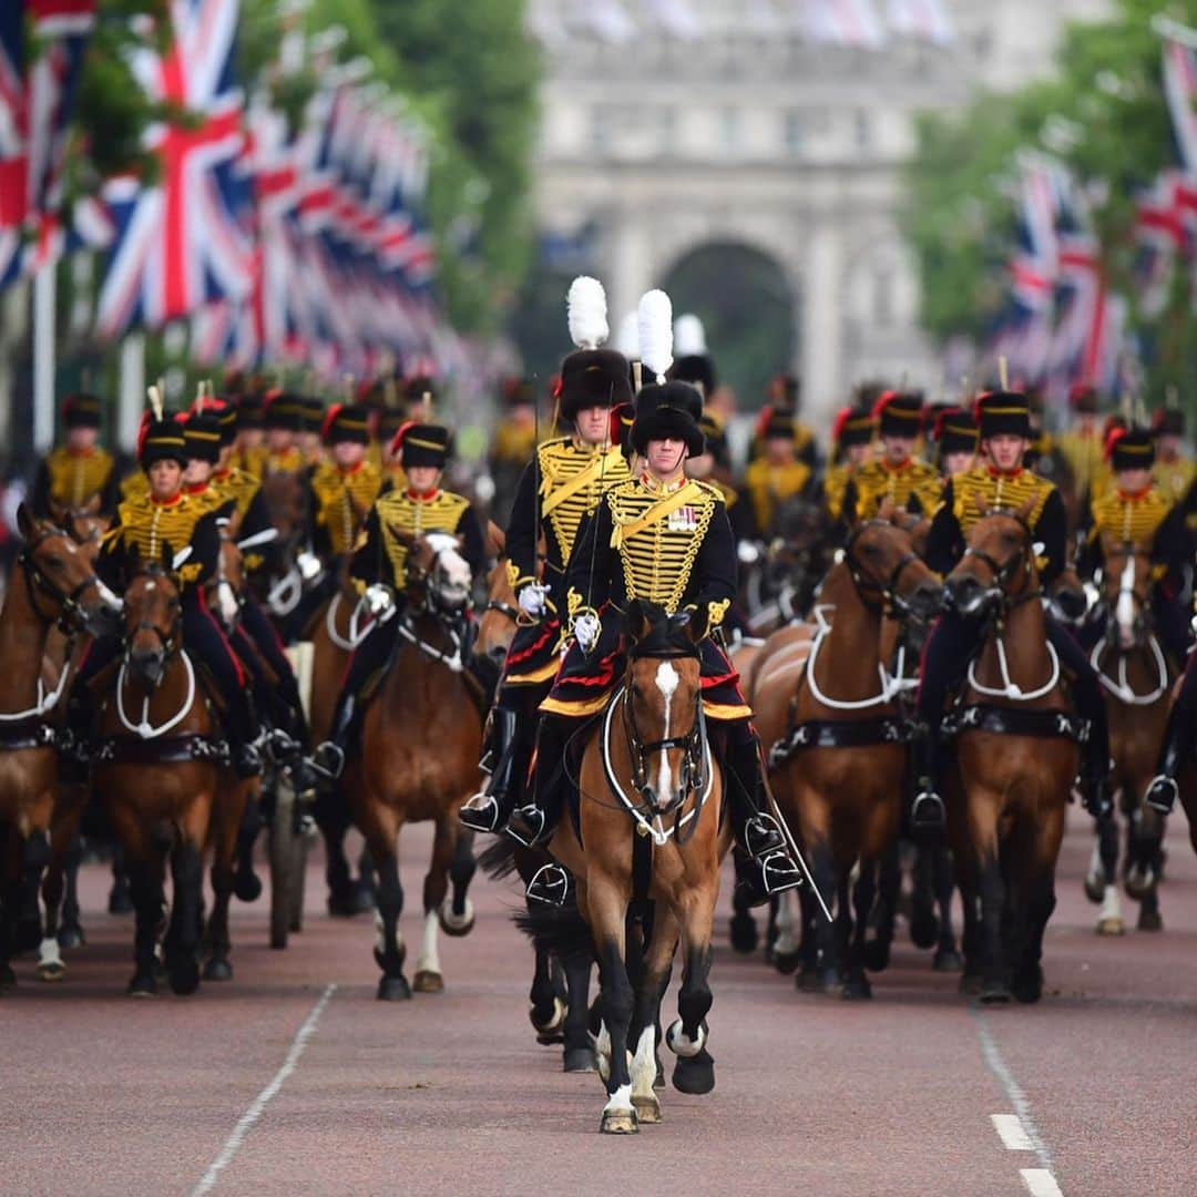
[[[40,941],[43,964],[61,966],[54,930],[43,937],[37,911],[38,881],[50,861],[59,780],[53,723],[62,692],[47,692],[42,682],[47,638],[55,624],[105,634],[120,613],[119,600],[66,531],[35,519],[24,504],[17,525],[25,547],[0,612],[0,985],[16,979],[13,954]],[[60,680],[65,685],[66,669]]]

